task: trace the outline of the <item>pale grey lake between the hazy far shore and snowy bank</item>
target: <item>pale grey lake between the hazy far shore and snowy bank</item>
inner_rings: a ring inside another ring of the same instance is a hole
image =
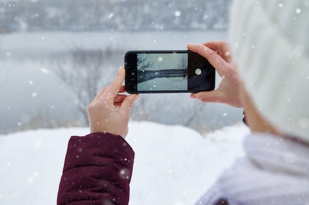
[[[111,83],[119,66],[123,66],[128,50],[186,50],[188,42],[226,38],[226,32],[216,31],[0,35],[0,116],[5,116],[0,133],[85,126],[86,113],[80,112],[79,106],[86,109],[96,93]],[[89,56],[86,52],[90,52]],[[106,57],[95,58],[101,52]],[[80,61],[82,55],[87,61]],[[100,67],[91,67],[91,62],[99,60],[102,61]],[[67,76],[72,77],[74,83],[68,85],[69,80],[62,78],[67,73],[77,75]],[[98,83],[88,84],[89,77],[98,77]],[[216,82],[218,86],[219,76]],[[92,89],[92,86],[95,87]],[[171,111],[175,106],[177,110]],[[242,111],[227,105],[192,101],[189,94],[144,94],[133,108],[132,118],[185,125],[203,132],[238,123]]]

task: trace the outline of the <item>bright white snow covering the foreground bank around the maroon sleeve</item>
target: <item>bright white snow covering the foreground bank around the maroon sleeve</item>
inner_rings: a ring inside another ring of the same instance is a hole
[[[135,151],[130,205],[192,205],[235,157],[244,125],[200,135],[182,126],[130,122]],[[0,204],[55,205],[67,143],[88,128],[0,136]]]

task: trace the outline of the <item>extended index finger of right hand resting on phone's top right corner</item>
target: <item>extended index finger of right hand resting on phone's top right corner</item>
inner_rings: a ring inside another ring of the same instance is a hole
[[[216,51],[200,44],[188,44],[187,47],[192,52],[198,53],[206,58],[209,63],[216,68],[220,76],[225,74],[225,68],[227,68],[229,64]]]

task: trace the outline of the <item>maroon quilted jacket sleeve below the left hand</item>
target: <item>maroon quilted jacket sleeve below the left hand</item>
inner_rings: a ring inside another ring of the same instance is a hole
[[[127,205],[133,162],[134,152],[120,136],[71,137],[57,205]]]

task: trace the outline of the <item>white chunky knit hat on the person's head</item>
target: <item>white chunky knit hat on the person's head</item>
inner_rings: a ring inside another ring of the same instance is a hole
[[[257,109],[309,142],[309,0],[235,0],[231,44]]]

